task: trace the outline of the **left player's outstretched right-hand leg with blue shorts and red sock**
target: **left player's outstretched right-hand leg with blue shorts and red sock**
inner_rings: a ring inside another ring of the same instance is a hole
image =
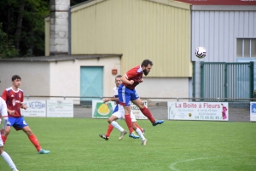
[[[23,117],[19,117],[19,119],[16,120],[16,123],[14,125],[16,130],[22,129],[23,132],[27,135],[28,139],[32,142],[32,144],[36,147],[39,154],[48,154],[49,151],[45,151],[39,141],[36,135],[32,133],[31,128],[29,128],[28,124],[24,120]]]

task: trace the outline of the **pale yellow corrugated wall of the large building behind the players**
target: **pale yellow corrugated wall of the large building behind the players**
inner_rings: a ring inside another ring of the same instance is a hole
[[[150,59],[150,77],[192,77],[189,7],[168,0],[102,0],[73,7],[72,54],[123,54],[121,73]]]

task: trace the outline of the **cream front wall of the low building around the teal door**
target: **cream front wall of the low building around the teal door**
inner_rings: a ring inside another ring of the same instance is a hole
[[[52,96],[80,96],[80,67],[103,66],[103,96],[112,97],[114,78],[120,74],[119,57],[90,60],[67,60],[50,62],[50,94]],[[112,75],[112,69],[118,74]],[[77,103],[78,98],[73,98]]]

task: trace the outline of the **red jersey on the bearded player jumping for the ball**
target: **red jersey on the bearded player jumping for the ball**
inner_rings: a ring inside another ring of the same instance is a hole
[[[132,85],[128,84],[128,83],[123,83],[125,85],[125,87],[130,88],[130,89],[134,89],[137,86],[137,84],[139,84],[140,81],[143,78],[143,69],[142,69],[142,67],[141,66],[136,66],[134,68],[131,68],[131,70],[126,72],[125,77],[128,80],[133,80],[134,81],[134,83]]]

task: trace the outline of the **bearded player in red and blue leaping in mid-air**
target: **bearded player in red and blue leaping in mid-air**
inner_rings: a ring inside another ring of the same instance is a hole
[[[119,86],[119,104],[124,106],[125,109],[125,123],[129,128],[130,135],[132,136],[132,123],[131,123],[131,102],[137,105],[143,112],[143,115],[148,117],[153,126],[164,123],[163,120],[155,120],[151,112],[145,105],[143,105],[142,100],[137,95],[135,87],[139,83],[143,83],[143,74],[148,75],[151,70],[153,63],[151,60],[143,60],[141,66],[135,66],[131,70],[127,71],[126,74],[121,77],[122,84]]]

